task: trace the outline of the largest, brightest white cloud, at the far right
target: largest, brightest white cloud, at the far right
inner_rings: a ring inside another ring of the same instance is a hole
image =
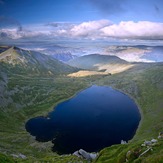
[[[103,36],[131,39],[163,39],[163,23],[127,21],[101,29]]]

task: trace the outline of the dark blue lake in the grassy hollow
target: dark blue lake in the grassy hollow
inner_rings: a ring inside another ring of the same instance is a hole
[[[88,152],[130,140],[138,127],[140,113],[127,95],[105,86],[92,86],[60,103],[47,117],[26,123],[36,140],[52,141],[60,154],[79,149]]]

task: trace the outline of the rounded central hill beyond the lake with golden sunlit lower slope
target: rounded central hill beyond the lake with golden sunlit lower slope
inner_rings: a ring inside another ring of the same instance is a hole
[[[79,71],[78,73],[73,73],[69,75],[73,77],[88,76],[88,74],[91,75],[115,74],[115,73],[126,71],[134,66],[134,64],[131,64],[116,56],[107,56],[107,55],[99,55],[99,54],[91,54],[91,55],[78,57],[73,60],[70,60],[68,64],[74,67],[91,71],[89,73],[88,71]]]

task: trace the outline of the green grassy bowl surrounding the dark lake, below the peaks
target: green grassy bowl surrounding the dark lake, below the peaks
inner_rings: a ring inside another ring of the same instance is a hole
[[[13,73],[13,64],[1,62],[0,66],[0,162],[87,162],[72,155],[53,153],[51,142],[35,141],[24,126],[28,119],[46,116],[58,103],[93,84],[112,86],[128,94],[137,102],[142,114],[134,138],[128,144],[101,150],[94,162],[163,160],[162,139],[152,146],[152,150],[139,157],[147,149],[141,144],[157,138],[158,133],[163,131],[163,63],[136,64],[121,73],[80,78],[65,74],[31,77],[29,71],[18,73],[21,66],[17,73]]]

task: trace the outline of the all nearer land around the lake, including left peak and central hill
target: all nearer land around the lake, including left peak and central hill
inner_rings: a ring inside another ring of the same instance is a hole
[[[134,138],[127,144],[104,148],[93,162],[125,162],[126,157],[130,162],[161,162],[162,139],[152,151],[139,156],[146,150],[141,144],[157,139],[163,131],[162,62],[129,63],[115,56],[89,55],[69,61],[69,66],[16,47],[1,47],[0,52],[0,162],[87,162],[52,152],[51,142],[37,142],[24,126],[30,118],[46,116],[58,103],[92,85],[120,90],[135,100],[141,112]],[[76,75],[82,71],[89,73]],[[126,156],[128,151],[131,154]]]

